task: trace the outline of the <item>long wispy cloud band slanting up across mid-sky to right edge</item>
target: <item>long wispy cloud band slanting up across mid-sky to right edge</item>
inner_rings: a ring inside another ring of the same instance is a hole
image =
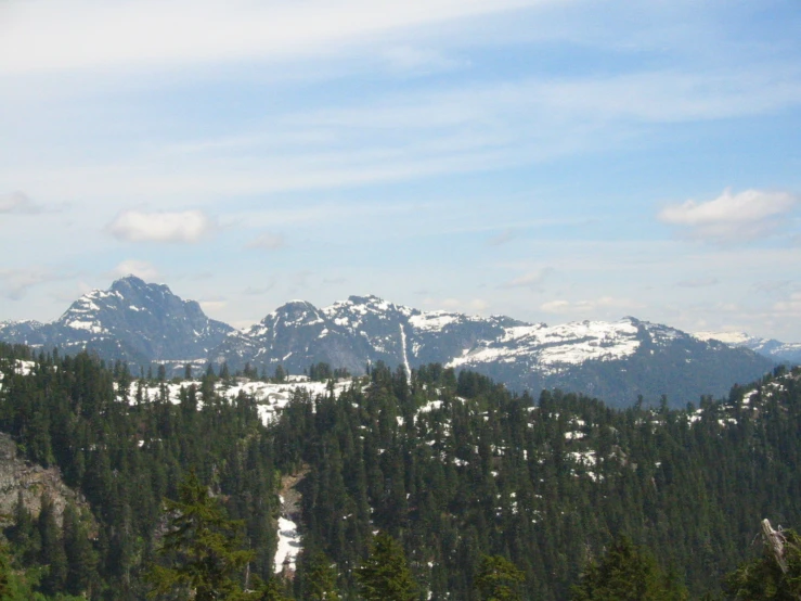
[[[7,167],[0,177],[44,179],[53,193],[105,201],[120,186],[140,197],[219,197],[487,172],[637,143],[655,125],[798,105],[799,72],[744,65],[462,81],[371,94],[347,107],[270,114],[262,124],[249,123],[246,132],[230,128],[218,137],[175,140],[106,164]]]

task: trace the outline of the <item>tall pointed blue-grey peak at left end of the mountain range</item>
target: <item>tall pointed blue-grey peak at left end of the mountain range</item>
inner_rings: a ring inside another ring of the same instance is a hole
[[[0,340],[64,351],[90,349],[134,365],[205,359],[233,328],[208,319],[194,300],[183,300],[164,284],[134,276],[107,291],[78,298],[55,321],[5,322]]]

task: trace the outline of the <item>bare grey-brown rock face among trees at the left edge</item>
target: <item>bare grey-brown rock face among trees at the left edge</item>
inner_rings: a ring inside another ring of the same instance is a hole
[[[81,497],[64,484],[57,468],[42,468],[22,459],[11,436],[0,433],[0,527],[11,524],[21,494],[25,507],[34,517],[41,510],[42,494],[50,497],[60,525],[68,501],[78,506],[86,504]]]

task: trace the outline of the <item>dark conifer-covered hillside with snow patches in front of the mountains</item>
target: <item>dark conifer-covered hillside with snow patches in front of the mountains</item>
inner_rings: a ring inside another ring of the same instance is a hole
[[[177,499],[190,471],[244,520],[247,573],[264,580],[280,476],[299,478],[305,551],[281,585],[297,599],[313,598],[320,558],[336,564],[344,599],[362,598],[356,574],[379,530],[400,542],[419,599],[481,599],[488,555],[521,571],[525,599],[570,599],[621,534],[695,598],[759,551],[762,517],[801,524],[798,371],[699,408],[615,410],[556,391],[513,394],[439,365],[406,374],[379,363],[315,397],[298,388],[264,425],[256,399],[217,394],[212,370],[171,402],[164,376],[146,382],[86,354],[0,346],[0,430],[57,465],[91,508],[11,516],[14,565],[31,578],[49,566],[38,585],[49,596],[143,599],[169,517],[162,499]],[[154,385],[160,394],[145,395]]]

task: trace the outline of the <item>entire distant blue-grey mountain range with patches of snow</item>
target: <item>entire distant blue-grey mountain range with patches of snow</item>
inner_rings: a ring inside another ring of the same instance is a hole
[[[502,316],[421,311],[376,296],[316,308],[293,300],[238,331],[208,319],[199,305],[163,284],[129,276],[92,291],[50,323],[0,323],[0,341],[63,351],[88,348],[106,359],[181,369],[186,362],[247,363],[272,374],[302,373],[313,362],[363,373],[384,361],[411,368],[438,362],[485,373],[513,389],[583,392],[611,405],[662,394],[672,405],[720,396],[771,370],[778,355],[702,340],[626,317],[548,327]]]

